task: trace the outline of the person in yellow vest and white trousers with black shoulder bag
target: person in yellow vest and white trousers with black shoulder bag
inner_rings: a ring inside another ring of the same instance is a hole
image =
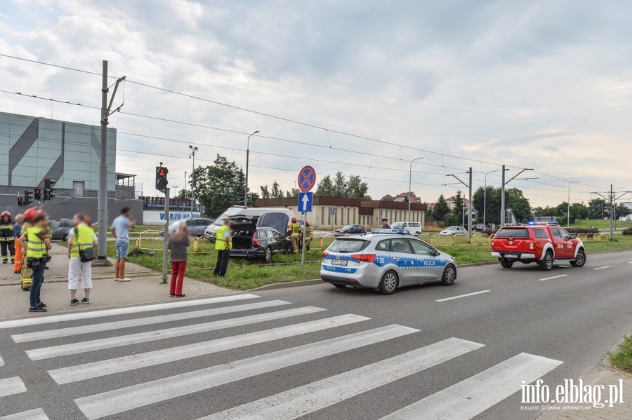
[[[97,238],[93,229],[86,224],[86,216],[77,213],[74,215],[74,229],[68,232],[68,289],[70,290],[70,306],[79,303],[77,299],[77,285],[79,273],[81,273],[81,288],[84,290],[82,304],[90,303],[90,290],[92,288],[92,261],[81,262],[79,250],[94,250],[97,246]]]

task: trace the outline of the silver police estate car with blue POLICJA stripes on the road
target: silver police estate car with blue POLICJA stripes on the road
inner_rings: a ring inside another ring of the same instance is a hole
[[[408,285],[435,281],[452,285],[456,260],[411,236],[344,236],[322,253],[320,278],[336,287],[371,287],[392,294]]]

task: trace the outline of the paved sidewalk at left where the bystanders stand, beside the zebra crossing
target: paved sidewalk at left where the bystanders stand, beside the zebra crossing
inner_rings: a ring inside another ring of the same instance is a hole
[[[175,299],[189,299],[236,293],[233,290],[185,278],[184,298],[169,296],[169,284],[162,284],[162,273],[150,271],[143,266],[125,264],[125,275],[129,282],[114,281],[114,266],[93,267],[90,292],[90,304],[70,306],[68,290],[68,257],[67,248],[53,244],[50,252],[53,259],[48,264],[50,269],[44,274],[41,288],[41,300],[48,307],[46,313],[29,312],[29,292],[20,287],[19,274],[13,273],[13,264],[0,264],[0,319],[46,316],[51,313],[67,313],[88,311],[93,309],[112,309],[117,306],[133,306],[159,302],[171,302]],[[110,259],[112,264],[114,261]],[[167,280],[169,282],[169,280]],[[81,282],[77,289],[77,299],[84,297]]]

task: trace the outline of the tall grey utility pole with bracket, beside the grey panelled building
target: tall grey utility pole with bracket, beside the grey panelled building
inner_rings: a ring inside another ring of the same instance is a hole
[[[101,76],[101,149],[100,149],[100,161],[99,161],[99,190],[98,190],[98,222],[99,222],[99,234],[98,243],[102,244],[98,248],[98,259],[107,261],[107,124],[108,118],[114,112],[119,111],[123,104],[121,104],[114,111],[112,109],[112,102],[114,96],[117,95],[117,88],[119,83],[125,80],[126,76],[117,79],[117,83],[114,86],[114,92],[110,98],[110,104],[107,104],[107,93],[110,90],[107,87],[107,60],[103,60],[103,74]]]

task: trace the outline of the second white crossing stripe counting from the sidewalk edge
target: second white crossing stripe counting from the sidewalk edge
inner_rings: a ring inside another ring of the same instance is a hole
[[[288,305],[290,302],[282,300],[272,300],[266,302],[256,302],[254,304],[222,306],[220,308],[204,309],[203,311],[179,312],[169,315],[152,316],[149,318],[132,318],[129,320],[116,321],[113,323],[83,325],[81,327],[60,328],[58,330],[44,330],[38,332],[28,332],[26,334],[15,334],[11,338],[16,343],[24,343],[26,341],[36,341],[44,339],[52,339],[57,337],[70,337],[77,334],[88,334],[92,332],[120,330],[121,328],[138,327],[140,325],[152,325],[159,323],[169,323],[171,321],[202,318],[204,316],[220,315],[222,313],[234,313],[241,311],[251,311],[253,309],[270,308],[272,306]]]

